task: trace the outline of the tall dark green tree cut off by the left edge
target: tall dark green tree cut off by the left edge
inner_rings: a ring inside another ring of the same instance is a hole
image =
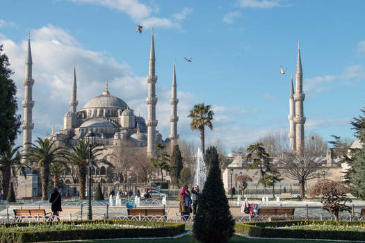
[[[0,153],[14,144],[19,133],[20,115],[17,115],[17,87],[10,78],[13,72],[10,69],[8,56],[0,45]]]

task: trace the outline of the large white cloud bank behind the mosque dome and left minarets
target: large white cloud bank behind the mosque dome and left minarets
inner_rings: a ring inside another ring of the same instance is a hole
[[[31,31],[31,50],[33,58],[33,138],[44,137],[51,131],[54,124],[56,131],[63,128],[63,116],[70,110],[71,86],[73,78],[73,62],[76,61],[78,109],[86,101],[102,94],[105,80],[108,78],[109,91],[112,95],[123,99],[136,115],[147,119],[147,81],[143,76],[136,76],[125,62],[117,62],[104,52],[90,51],[76,40],[75,37],[61,28],[52,25]],[[4,52],[10,59],[10,67],[15,71],[12,76],[17,85],[18,112],[23,116],[22,100],[24,99],[24,60],[27,41],[16,43],[4,35],[0,35]],[[146,73],[148,70],[146,70]],[[107,76],[106,76],[107,75]],[[177,73],[177,77],[178,77]],[[156,85],[156,95],[159,102],[156,107],[156,117],[159,119],[157,130],[163,138],[170,134],[170,87]],[[178,92],[179,133],[189,137],[190,120],[187,118],[193,106],[195,96],[186,92]],[[22,117],[21,120],[24,118]],[[22,135],[18,136],[17,144],[22,143]]]

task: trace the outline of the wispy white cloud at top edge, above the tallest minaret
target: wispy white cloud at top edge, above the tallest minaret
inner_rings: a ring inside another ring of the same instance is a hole
[[[159,12],[159,7],[147,6],[140,3],[138,0],[69,0],[74,3],[89,3],[106,8],[111,8],[120,12],[125,12],[134,22],[143,24],[146,28],[164,27],[175,28],[181,27],[179,22],[184,20],[188,14],[193,12],[192,8],[183,8],[181,12],[177,12],[172,15],[173,19],[167,17],[156,17],[152,15],[152,12]]]

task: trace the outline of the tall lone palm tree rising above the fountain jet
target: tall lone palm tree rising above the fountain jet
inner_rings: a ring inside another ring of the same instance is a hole
[[[214,112],[211,110],[211,106],[204,106],[204,103],[198,103],[194,106],[193,110],[190,110],[190,114],[188,117],[193,119],[190,123],[191,131],[200,130],[200,148],[202,149],[202,153],[204,156],[205,147],[204,147],[204,127],[208,126],[213,129],[213,124],[211,124],[211,120],[213,120]]]

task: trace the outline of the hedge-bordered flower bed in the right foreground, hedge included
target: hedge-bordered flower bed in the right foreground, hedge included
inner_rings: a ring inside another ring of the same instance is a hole
[[[364,221],[290,220],[237,223],[236,233],[252,237],[302,238],[327,240],[364,240]]]

